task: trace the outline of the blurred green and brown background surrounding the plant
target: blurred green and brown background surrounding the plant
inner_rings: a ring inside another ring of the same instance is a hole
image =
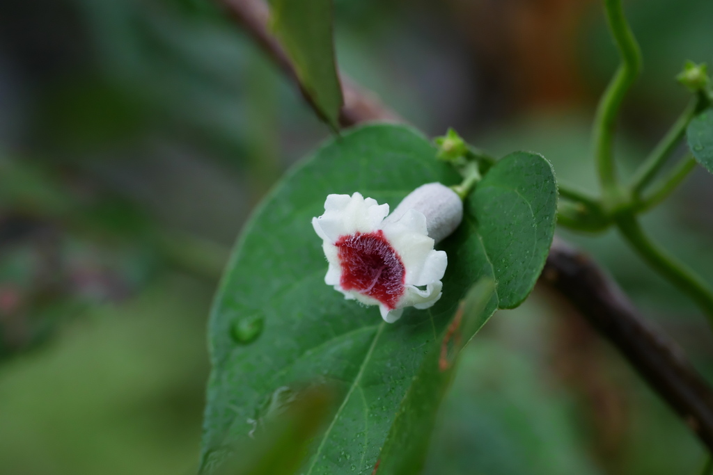
[[[631,0],[645,71],[632,169],[713,60],[709,0]],[[335,0],[340,66],[429,135],[542,152],[596,190],[590,120],[617,56],[593,0]],[[0,1],[0,473],[193,474],[205,326],[230,246],[329,135],[210,0]],[[680,152],[683,152],[680,150]],[[646,225],[713,283],[713,177]],[[713,380],[713,338],[614,233],[605,263]],[[467,348],[429,475],[694,474],[704,451],[546,288]]]

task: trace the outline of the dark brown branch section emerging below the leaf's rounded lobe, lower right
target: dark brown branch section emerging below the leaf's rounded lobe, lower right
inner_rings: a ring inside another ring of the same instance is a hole
[[[555,238],[541,279],[615,345],[713,450],[713,392],[678,345],[642,318],[592,259]]]

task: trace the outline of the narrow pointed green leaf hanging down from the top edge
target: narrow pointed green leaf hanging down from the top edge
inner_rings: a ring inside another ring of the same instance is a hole
[[[297,69],[304,92],[337,130],[342,87],[334,58],[332,0],[270,0],[272,28]]]

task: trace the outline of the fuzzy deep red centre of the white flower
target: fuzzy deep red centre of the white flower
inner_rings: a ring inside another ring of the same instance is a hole
[[[376,298],[393,310],[404,294],[406,268],[384,232],[354,233],[337,241],[342,277],[339,285],[345,291],[357,291]]]

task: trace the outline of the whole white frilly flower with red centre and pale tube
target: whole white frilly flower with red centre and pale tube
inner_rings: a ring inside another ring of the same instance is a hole
[[[344,298],[378,305],[393,323],[405,307],[429,308],[441,298],[448,259],[429,233],[438,240],[451,234],[463,204],[442,184],[426,184],[388,214],[388,204],[359,193],[330,194],[312,226],[329,263],[324,281]]]

